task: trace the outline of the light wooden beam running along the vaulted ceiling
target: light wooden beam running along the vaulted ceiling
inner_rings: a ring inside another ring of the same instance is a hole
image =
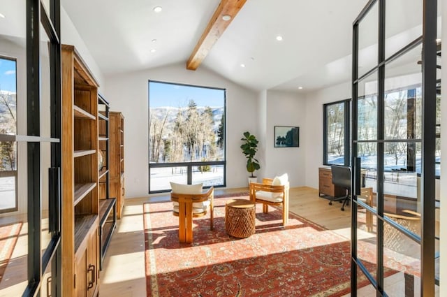
[[[210,52],[214,43],[220,38],[225,31],[226,27],[234,20],[235,16],[244,6],[247,0],[221,0],[219,6],[208,22],[205,31],[203,31],[196,47],[194,48],[191,56],[186,62],[186,69],[196,70],[200,63],[205,59]],[[223,20],[223,15],[230,15],[230,20]]]

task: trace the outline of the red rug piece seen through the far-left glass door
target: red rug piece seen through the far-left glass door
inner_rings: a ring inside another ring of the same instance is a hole
[[[22,222],[0,226],[0,282],[13,254],[20,229],[22,229]]]

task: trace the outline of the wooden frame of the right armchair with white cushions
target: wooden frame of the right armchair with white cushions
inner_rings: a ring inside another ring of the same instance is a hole
[[[249,184],[250,201],[253,203],[263,203],[263,212],[268,212],[268,205],[281,206],[282,207],[282,224],[285,226],[288,223],[288,190],[289,183],[281,185],[272,185],[272,178],[263,178],[263,182],[251,182]],[[268,191],[270,193],[282,193],[282,201],[272,202],[266,201],[261,198],[256,198],[256,191]]]

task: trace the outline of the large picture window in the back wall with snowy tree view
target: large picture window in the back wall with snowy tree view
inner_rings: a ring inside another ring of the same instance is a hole
[[[226,184],[226,90],[149,81],[149,193]]]

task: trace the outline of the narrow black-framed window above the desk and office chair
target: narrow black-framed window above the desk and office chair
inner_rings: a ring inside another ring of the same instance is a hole
[[[323,164],[349,165],[350,100],[323,105]]]

